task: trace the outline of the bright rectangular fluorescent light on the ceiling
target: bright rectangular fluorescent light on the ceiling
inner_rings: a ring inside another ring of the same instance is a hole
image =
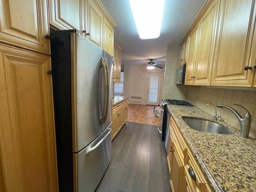
[[[129,1],[140,38],[158,38],[162,25],[164,0]]]

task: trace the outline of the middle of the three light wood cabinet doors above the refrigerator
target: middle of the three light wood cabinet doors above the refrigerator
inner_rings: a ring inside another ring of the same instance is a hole
[[[88,0],[88,39],[103,47],[103,14],[93,0]]]

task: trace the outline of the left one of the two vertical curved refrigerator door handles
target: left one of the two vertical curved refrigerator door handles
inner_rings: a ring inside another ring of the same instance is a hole
[[[101,58],[100,60],[101,66],[103,68],[104,73],[104,101],[103,101],[103,111],[102,111],[102,118],[100,118],[100,125],[102,125],[106,121],[106,113],[107,113],[107,94],[108,91],[108,80],[107,80],[107,69],[104,59]]]

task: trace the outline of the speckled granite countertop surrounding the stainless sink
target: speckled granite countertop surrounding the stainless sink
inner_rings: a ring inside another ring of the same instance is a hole
[[[234,134],[193,130],[182,117],[213,121],[213,115],[196,106],[168,105],[168,109],[214,191],[256,192],[256,140],[240,137],[239,130],[219,120]]]

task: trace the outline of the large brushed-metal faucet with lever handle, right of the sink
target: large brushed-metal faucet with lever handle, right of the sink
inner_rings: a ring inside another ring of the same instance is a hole
[[[238,104],[235,104],[235,105],[238,105]],[[250,131],[250,125],[251,125],[251,121],[252,121],[252,116],[251,116],[250,112],[243,106],[238,105],[246,111],[246,114],[244,115],[244,117],[242,117],[236,110],[234,110],[230,106],[226,106],[226,105],[222,105],[222,104],[218,104],[216,106],[218,108],[226,108],[226,109],[230,110],[239,121],[239,124],[241,127],[241,136],[244,138],[248,138],[249,131]]]

